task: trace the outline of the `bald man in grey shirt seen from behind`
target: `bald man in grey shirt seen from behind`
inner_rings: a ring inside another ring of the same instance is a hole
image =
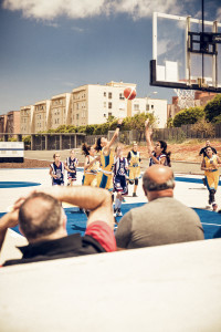
[[[173,198],[171,168],[152,165],[143,177],[148,204],[134,208],[119,221],[116,230],[118,248],[133,249],[203,240],[203,228],[191,208]]]

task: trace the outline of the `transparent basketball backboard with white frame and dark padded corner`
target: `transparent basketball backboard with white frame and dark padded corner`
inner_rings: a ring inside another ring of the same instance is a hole
[[[150,85],[221,92],[221,23],[155,12]]]

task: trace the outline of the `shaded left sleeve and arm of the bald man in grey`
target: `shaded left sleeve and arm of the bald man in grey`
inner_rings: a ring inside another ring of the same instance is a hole
[[[131,211],[127,212],[119,221],[115,232],[117,249],[127,249],[131,240]]]

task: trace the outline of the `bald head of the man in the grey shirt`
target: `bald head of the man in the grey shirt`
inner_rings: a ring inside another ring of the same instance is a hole
[[[150,166],[143,176],[143,188],[148,200],[162,196],[173,196],[175,177],[172,169],[162,165]],[[150,199],[151,197],[154,198]]]

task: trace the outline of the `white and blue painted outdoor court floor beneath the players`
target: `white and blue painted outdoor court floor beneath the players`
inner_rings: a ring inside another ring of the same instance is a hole
[[[18,197],[25,195],[30,190],[33,190],[35,186],[41,186],[42,188],[44,186],[51,186],[51,178],[48,169],[7,170],[8,172],[6,173],[3,169],[0,169],[0,191],[3,190],[1,191],[0,217]],[[78,185],[82,183],[82,176],[83,169],[80,168],[76,181]],[[19,179],[19,181],[17,179]],[[131,208],[139,207],[147,201],[141,189],[141,181],[139,181],[138,186],[138,198],[131,197],[131,190],[133,186],[129,186],[129,196],[126,197],[126,203],[122,206],[123,215],[125,215]],[[217,194],[218,205],[219,201],[221,201],[219,190]],[[175,198],[196,210],[202,222],[206,239],[212,239],[217,236],[217,234],[219,235],[221,232],[221,214],[213,212],[206,208],[208,201],[208,190],[202,184],[202,176],[177,175]],[[66,207],[65,212],[67,215],[69,235],[74,232],[81,232],[81,235],[83,235],[86,228],[86,215],[81,212],[77,207]],[[119,222],[120,217],[117,217],[116,220]],[[13,228],[13,230],[19,232],[18,227]]]

